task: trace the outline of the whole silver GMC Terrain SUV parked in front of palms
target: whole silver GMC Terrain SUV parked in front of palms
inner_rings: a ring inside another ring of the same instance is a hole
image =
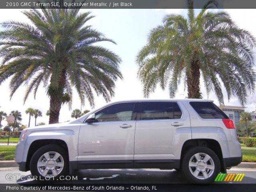
[[[63,124],[22,131],[15,161],[41,178],[78,169],[181,170],[213,182],[242,160],[232,120],[212,100],[114,102]]]

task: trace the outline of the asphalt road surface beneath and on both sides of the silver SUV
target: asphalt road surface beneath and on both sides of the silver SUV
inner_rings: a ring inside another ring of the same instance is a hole
[[[245,173],[241,182],[214,182],[256,184],[256,168],[232,168],[228,173]],[[20,172],[18,168],[0,168],[0,183],[37,184],[30,171]],[[159,169],[98,169],[79,170],[78,180],[58,180],[58,184],[186,184],[188,181],[175,170]],[[72,176],[71,176],[72,177]],[[8,179],[9,180],[8,180]],[[12,179],[13,178],[13,179]],[[22,179],[21,179],[22,178]]]

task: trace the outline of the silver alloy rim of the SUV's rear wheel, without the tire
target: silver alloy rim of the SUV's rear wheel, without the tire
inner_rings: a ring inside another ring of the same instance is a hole
[[[214,161],[206,153],[196,153],[189,160],[189,170],[197,179],[207,179],[214,172]]]

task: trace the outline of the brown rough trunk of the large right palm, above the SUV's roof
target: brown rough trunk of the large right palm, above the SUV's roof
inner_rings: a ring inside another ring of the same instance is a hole
[[[188,98],[200,98],[200,66],[198,62],[193,60],[189,70],[186,72]]]

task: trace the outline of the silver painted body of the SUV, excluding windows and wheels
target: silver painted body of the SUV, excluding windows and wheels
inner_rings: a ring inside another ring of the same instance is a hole
[[[164,120],[85,122],[90,114],[110,105],[145,101],[177,102],[182,116]],[[212,102],[197,99],[127,100],[109,103],[72,122],[28,128],[24,140],[21,135],[17,144],[15,161],[20,164],[20,170],[29,170],[29,151],[36,148],[36,142],[40,140],[47,144],[60,140],[67,146],[70,170],[178,168],[186,142],[209,139],[218,142],[225,168],[239,164],[242,155],[236,130],[226,128],[220,119],[201,118],[189,104],[191,101]]]

